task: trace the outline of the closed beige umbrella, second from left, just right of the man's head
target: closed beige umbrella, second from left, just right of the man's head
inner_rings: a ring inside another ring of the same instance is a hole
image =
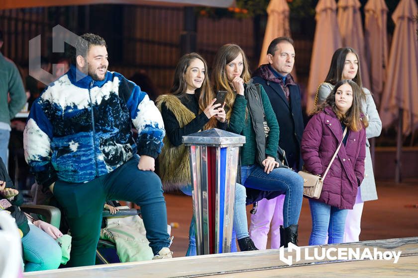
[[[341,47],[335,0],[319,0],[315,7],[316,27],[307,91],[307,112],[314,108],[316,89],[324,81],[332,54]]]

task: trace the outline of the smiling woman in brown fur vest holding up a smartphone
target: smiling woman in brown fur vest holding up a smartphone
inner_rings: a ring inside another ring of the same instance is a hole
[[[182,136],[210,128],[226,128],[223,105],[214,104],[206,61],[197,53],[180,58],[170,94],[157,98],[157,107],[163,116],[166,136],[159,155],[160,177],[165,189],[178,188],[192,195],[189,149],[182,144]],[[245,210],[245,188],[236,184],[234,229],[241,251],[257,250],[248,235]],[[189,231],[189,249],[186,256],[196,255],[194,219]],[[232,243],[235,240],[233,238]]]

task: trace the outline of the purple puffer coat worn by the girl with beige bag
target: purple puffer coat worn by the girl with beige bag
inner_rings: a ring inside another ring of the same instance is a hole
[[[344,144],[341,145],[332,162],[317,200],[338,209],[353,208],[357,188],[364,178],[365,129],[347,132],[347,143],[345,147]],[[330,107],[325,107],[324,111],[315,114],[302,136],[301,148],[305,170],[322,175],[341,139],[341,123]]]

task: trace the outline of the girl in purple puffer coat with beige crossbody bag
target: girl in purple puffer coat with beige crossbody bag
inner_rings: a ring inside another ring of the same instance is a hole
[[[364,94],[351,80],[335,84],[325,102],[317,107],[302,137],[305,170],[323,175],[339,143],[341,147],[323,180],[319,199],[309,199],[312,231],[309,245],[343,242],[345,218],[353,209],[357,188],[364,177],[366,132],[362,117]],[[347,129],[343,137],[343,131]]]

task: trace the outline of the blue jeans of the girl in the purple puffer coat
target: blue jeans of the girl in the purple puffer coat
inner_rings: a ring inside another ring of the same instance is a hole
[[[325,203],[309,199],[312,216],[312,231],[309,245],[342,243],[344,237],[345,218],[348,209],[337,209]]]

